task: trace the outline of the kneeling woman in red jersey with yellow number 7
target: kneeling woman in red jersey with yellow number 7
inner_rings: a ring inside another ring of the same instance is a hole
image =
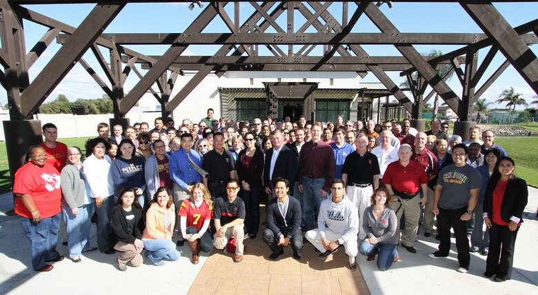
[[[198,254],[210,252],[212,247],[211,235],[208,231],[209,221],[213,216],[211,195],[203,183],[196,183],[190,190],[188,200],[181,203],[179,208],[181,234],[192,251],[192,264],[198,263]]]

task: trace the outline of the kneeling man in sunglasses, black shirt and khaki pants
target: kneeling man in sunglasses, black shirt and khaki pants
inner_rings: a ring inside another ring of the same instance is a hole
[[[235,237],[235,262],[243,260],[243,223],[245,222],[245,203],[237,197],[239,181],[230,179],[226,183],[228,198],[219,198],[215,201],[215,239],[213,245],[223,250],[228,239]]]

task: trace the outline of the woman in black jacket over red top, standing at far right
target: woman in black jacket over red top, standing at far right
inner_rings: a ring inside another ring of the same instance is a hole
[[[484,194],[484,223],[490,230],[486,259],[488,278],[503,282],[512,276],[514,246],[528,199],[527,183],[514,176],[515,163],[508,156],[497,162]]]

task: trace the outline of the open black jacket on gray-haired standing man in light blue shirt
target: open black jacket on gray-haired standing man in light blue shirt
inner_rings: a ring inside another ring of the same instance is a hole
[[[287,179],[290,186],[292,186],[297,178],[297,162],[299,161],[297,159],[297,154],[290,150],[290,148],[288,148],[286,145],[282,146],[277,158],[277,162],[275,162],[275,168],[272,171],[272,181],[270,183],[269,172],[271,170],[272,152],[273,149],[266,151],[266,163],[263,166],[264,185],[272,189],[272,187],[275,187],[275,181],[277,178],[282,177],[283,179]]]

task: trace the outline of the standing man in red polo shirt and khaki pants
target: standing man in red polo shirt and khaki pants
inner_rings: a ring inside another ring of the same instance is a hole
[[[411,160],[412,148],[407,143],[400,146],[399,161],[388,164],[383,183],[385,184],[392,203],[390,207],[396,212],[398,227],[401,215],[405,214],[406,225],[401,236],[401,245],[408,252],[416,253],[415,238],[419,229],[421,206],[426,204],[428,196],[428,175],[424,166]],[[422,198],[419,192],[422,190]],[[396,231],[400,243],[400,231]]]

